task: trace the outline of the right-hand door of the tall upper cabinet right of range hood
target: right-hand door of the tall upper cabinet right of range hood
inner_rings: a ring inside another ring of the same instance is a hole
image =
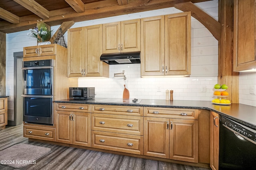
[[[191,14],[165,16],[165,75],[191,74]]]

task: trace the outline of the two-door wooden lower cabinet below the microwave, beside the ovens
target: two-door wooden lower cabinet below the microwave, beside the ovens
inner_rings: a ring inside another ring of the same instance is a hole
[[[91,114],[56,111],[56,142],[90,147]]]

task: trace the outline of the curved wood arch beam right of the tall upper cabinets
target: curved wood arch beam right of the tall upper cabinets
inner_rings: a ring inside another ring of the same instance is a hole
[[[175,4],[174,7],[183,12],[191,11],[191,16],[200,21],[218,41],[220,40],[220,23],[206,12],[198,8],[192,2]]]

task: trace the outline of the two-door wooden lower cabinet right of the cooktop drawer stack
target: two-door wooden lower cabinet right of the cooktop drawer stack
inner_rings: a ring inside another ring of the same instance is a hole
[[[198,120],[144,117],[144,155],[198,162]]]

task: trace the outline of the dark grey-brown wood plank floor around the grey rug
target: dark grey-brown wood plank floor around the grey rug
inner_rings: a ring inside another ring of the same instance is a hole
[[[23,137],[22,125],[0,131],[0,150],[17,143],[48,147],[51,151],[22,170],[208,170],[169,162],[134,158],[93,150],[78,149],[28,141]],[[0,164],[0,170],[14,170]]]

